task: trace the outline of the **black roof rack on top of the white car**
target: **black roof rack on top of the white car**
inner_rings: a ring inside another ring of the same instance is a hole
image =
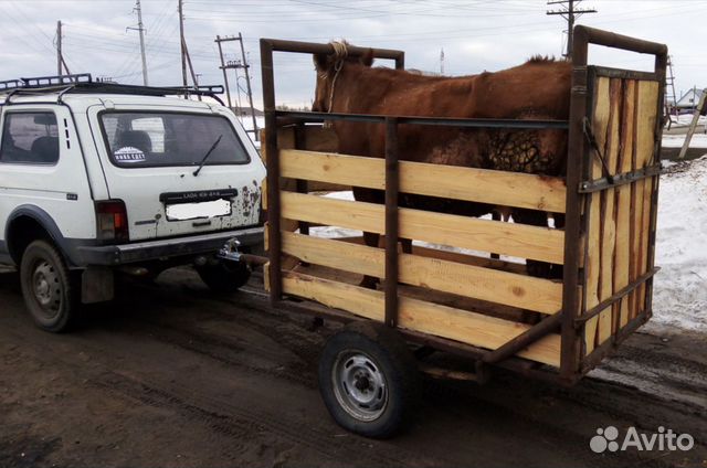
[[[99,94],[126,94],[143,96],[209,96],[223,104],[218,96],[223,93],[222,85],[199,86],[140,86],[124,85],[113,82],[93,81],[91,73],[76,75],[35,76],[31,78],[17,78],[0,82],[0,94],[9,93],[10,96],[20,94],[43,94],[59,92],[67,93],[99,93]]]

